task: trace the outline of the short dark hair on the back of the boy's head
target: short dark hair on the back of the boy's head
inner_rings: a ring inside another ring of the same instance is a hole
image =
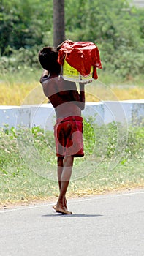
[[[61,72],[61,65],[57,62],[58,50],[54,47],[44,47],[39,50],[39,62],[43,69],[49,72],[55,72],[57,75]]]

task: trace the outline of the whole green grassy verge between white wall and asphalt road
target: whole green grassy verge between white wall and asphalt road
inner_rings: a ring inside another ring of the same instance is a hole
[[[67,196],[144,187],[144,127],[91,124],[84,121],[85,157],[75,159]],[[53,132],[5,127],[0,142],[1,206],[58,196]]]

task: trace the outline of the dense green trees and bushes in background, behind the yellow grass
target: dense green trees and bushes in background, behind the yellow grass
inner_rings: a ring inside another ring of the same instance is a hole
[[[65,1],[67,39],[95,42],[103,69],[119,78],[144,72],[143,17],[129,1]],[[53,1],[1,1],[1,72],[39,68],[44,45],[53,45]]]

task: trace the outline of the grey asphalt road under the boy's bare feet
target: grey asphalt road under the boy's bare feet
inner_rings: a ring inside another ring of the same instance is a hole
[[[143,256],[144,189],[0,210],[1,256]]]

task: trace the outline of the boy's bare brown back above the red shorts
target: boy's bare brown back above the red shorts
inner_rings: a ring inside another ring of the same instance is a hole
[[[61,75],[43,75],[40,82],[45,96],[55,108],[56,118],[81,116],[84,102],[80,99],[76,84],[64,80]]]

